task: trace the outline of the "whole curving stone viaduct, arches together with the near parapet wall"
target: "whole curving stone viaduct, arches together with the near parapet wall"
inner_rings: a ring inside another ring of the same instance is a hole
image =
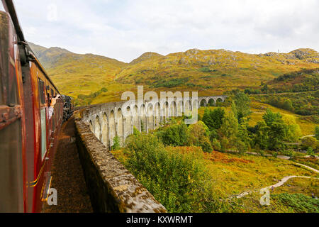
[[[158,128],[168,118],[197,113],[199,106],[225,101],[226,96],[196,99],[120,101],[81,109],[74,114],[76,143],[86,186],[95,212],[167,212],[123,164],[109,152],[113,138],[121,143],[133,133]]]

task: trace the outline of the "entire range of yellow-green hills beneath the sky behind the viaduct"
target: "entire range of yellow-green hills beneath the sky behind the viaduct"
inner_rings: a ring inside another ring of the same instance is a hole
[[[120,100],[123,92],[135,91],[137,84],[145,85],[145,91],[198,91],[200,96],[237,88],[259,89],[265,83],[270,87],[294,86],[299,77],[295,82],[274,79],[319,67],[319,53],[306,48],[259,55],[198,49],[166,56],[145,52],[125,63],[62,48],[44,48],[33,43],[30,46],[60,92],[74,97],[81,105]],[[317,74],[314,75],[311,78]]]

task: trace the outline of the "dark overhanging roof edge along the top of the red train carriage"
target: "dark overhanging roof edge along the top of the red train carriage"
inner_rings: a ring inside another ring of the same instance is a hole
[[[9,13],[9,15],[11,17],[11,21],[13,23],[13,26],[16,29],[16,34],[18,36],[18,42],[23,43],[26,46],[26,51],[27,51],[27,54],[29,55],[28,57],[31,57],[34,60],[35,64],[38,65],[38,67],[43,72],[43,74],[45,74],[45,77],[47,78],[47,80],[49,80],[49,82],[52,84],[52,86],[55,87],[57,92],[60,94],[59,90],[57,89],[55,84],[52,82],[52,79],[50,79],[50,77],[47,75],[45,68],[43,67],[43,65],[41,65],[40,61],[38,60],[38,57],[36,57],[35,53],[30,48],[30,45],[28,44],[28,42],[24,38],[22,28],[21,28],[20,23],[18,21],[18,16],[16,15],[16,9],[14,8],[13,1],[12,0],[2,0],[2,3],[4,4],[4,9],[6,10],[6,12]]]

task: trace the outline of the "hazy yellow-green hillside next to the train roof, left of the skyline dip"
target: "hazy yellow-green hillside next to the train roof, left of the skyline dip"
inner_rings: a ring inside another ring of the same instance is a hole
[[[110,87],[115,74],[128,65],[109,57],[29,44],[60,92],[74,98]]]

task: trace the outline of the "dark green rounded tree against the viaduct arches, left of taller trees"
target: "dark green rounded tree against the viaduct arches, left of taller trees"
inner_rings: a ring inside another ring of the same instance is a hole
[[[225,111],[220,107],[214,110],[206,108],[202,121],[208,126],[209,130],[219,129],[223,123],[224,116]]]

